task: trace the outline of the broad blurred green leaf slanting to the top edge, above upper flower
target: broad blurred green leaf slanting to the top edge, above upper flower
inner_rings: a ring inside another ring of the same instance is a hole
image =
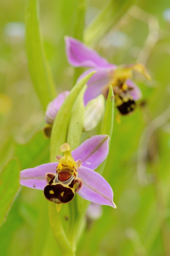
[[[84,42],[95,44],[110,28],[113,28],[136,0],[110,0],[85,29]]]

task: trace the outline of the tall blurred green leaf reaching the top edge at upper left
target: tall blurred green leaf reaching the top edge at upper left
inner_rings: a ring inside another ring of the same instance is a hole
[[[35,92],[46,110],[55,98],[55,86],[45,57],[37,0],[28,0],[26,10],[26,50],[30,76]]]

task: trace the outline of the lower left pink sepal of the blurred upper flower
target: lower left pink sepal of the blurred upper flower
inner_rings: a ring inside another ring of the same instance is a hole
[[[114,66],[107,68],[91,68],[86,70],[79,78],[78,81],[87,75],[89,72],[96,70],[95,73],[87,83],[87,89],[84,95],[85,105],[89,100],[92,100],[102,93],[102,89],[105,85],[109,84],[111,81],[111,76],[113,74]]]

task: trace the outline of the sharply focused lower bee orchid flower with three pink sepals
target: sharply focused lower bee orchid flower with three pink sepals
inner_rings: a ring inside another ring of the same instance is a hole
[[[21,171],[20,184],[44,190],[45,197],[56,204],[68,203],[78,192],[82,198],[95,204],[116,208],[112,188],[99,173],[93,171],[108,155],[108,140],[107,135],[93,136],[72,153],[65,143],[60,148],[64,156],[57,156],[58,163]]]

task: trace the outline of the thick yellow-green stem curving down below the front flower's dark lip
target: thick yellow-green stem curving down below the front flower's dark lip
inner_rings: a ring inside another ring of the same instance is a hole
[[[49,222],[55,240],[62,251],[62,255],[74,256],[75,252],[73,252],[71,244],[63,229],[60,212],[57,212],[56,205],[53,202],[49,202]]]

